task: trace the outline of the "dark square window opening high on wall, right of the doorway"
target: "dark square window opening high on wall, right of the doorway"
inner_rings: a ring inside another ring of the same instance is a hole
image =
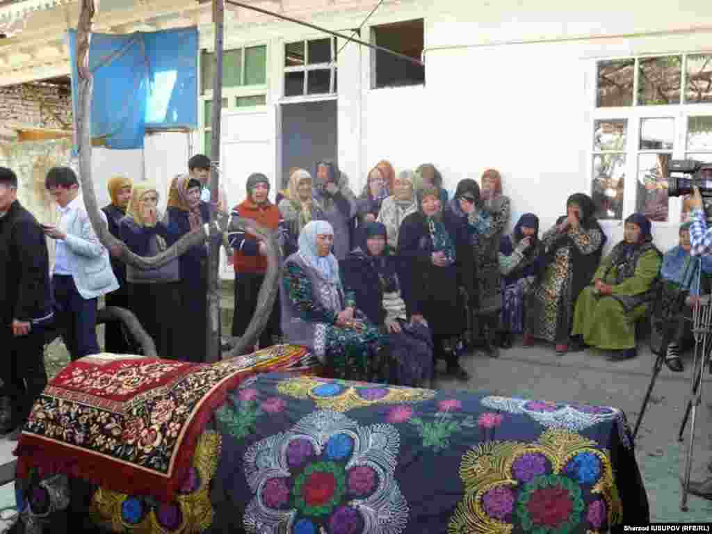
[[[420,60],[424,46],[423,19],[374,26],[372,31],[373,42],[377,46]],[[425,83],[424,66],[382,51],[374,51],[373,57],[375,57],[373,88]]]

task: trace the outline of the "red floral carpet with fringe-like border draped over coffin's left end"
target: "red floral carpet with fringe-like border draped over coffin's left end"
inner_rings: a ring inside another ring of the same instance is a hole
[[[231,389],[257,372],[314,369],[304,347],[276,345],[214,364],[100,354],[70,363],[33,406],[17,476],[66,474],[171,501],[197,441]]]

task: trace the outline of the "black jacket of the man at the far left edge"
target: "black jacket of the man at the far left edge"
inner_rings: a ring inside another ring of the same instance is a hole
[[[41,320],[52,312],[47,241],[34,216],[14,201],[0,217],[0,320]]]

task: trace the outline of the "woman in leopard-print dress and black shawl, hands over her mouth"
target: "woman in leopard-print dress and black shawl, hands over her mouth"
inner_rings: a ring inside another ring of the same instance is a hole
[[[528,298],[524,345],[538,337],[568,350],[574,305],[601,261],[606,236],[595,218],[596,206],[587,194],[572,194],[567,214],[545,231],[541,242],[541,278]]]

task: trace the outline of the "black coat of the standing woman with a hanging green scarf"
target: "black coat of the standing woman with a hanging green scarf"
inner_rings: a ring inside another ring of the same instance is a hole
[[[467,229],[451,211],[443,212],[443,224],[455,247],[456,261],[448,267],[436,267],[431,262],[432,241],[424,214],[407,216],[398,234],[398,254],[401,257],[399,279],[401,294],[408,315],[422,313],[424,300],[458,301],[459,288],[466,290],[469,300],[476,300],[473,269],[475,258]]]

